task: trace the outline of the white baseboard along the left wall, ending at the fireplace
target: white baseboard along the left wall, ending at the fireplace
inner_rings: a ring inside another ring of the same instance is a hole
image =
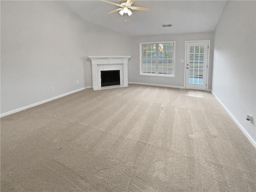
[[[52,97],[52,98],[49,98],[49,99],[40,101],[40,102],[36,102],[36,103],[34,103],[34,104],[30,104],[30,105],[27,105],[27,106],[24,106],[24,107],[21,107],[21,108],[18,108],[18,109],[14,109],[14,110],[5,112],[5,113],[3,113],[3,114],[0,114],[0,117],[4,117],[4,116],[7,116],[7,115],[10,115],[10,114],[13,114],[13,113],[16,113],[16,112],[19,112],[19,111],[22,111],[22,110],[25,110],[25,109],[28,109],[28,108],[37,106],[37,105],[40,105],[40,104],[43,104],[43,103],[46,103],[46,102],[49,102],[49,101],[52,101],[52,100],[55,100],[55,99],[58,99],[58,98],[61,98],[61,97],[70,95],[70,94],[75,93],[75,92],[78,92],[78,91],[82,91],[82,90],[84,90],[84,89],[88,89],[88,88],[92,88],[92,86],[80,88],[80,89],[77,89],[77,90],[74,90],[74,91],[70,91],[70,92],[68,92],[68,93],[64,93],[64,94],[61,94],[61,95],[58,95],[58,96],[55,96],[55,97]]]

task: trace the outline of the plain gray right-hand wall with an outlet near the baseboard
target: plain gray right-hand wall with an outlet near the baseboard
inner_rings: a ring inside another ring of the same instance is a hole
[[[256,140],[255,1],[229,1],[216,26],[212,91]],[[252,114],[254,124],[246,120]]]

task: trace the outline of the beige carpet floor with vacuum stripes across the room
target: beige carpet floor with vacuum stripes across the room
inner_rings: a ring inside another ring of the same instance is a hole
[[[1,192],[255,192],[256,150],[210,92],[86,89],[1,118]]]

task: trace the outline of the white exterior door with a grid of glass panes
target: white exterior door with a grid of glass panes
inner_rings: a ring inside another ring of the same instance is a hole
[[[208,41],[186,42],[186,89],[206,90]]]

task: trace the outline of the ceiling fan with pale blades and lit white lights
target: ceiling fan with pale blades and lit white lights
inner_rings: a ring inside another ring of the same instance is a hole
[[[131,16],[132,15],[131,9],[132,10],[140,10],[140,11],[150,11],[150,8],[147,8],[147,7],[135,7],[135,6],[132,6],[132,3],[135,0],[127,0],[127,1],[126,0],[122,0],[122,1],[120,1],[120,4],[117,4],[117,3],[114,3],[114,2],[111,2],[111,1],[106,1],[106,0],[102,0],[102,1],[120,7],[118,9],[115,9],[115,10],[112,10],[112,11],[108,12],[108,14],[119,11],[120,15],[123,15],[124,13],[127,13],[128,16]]]

